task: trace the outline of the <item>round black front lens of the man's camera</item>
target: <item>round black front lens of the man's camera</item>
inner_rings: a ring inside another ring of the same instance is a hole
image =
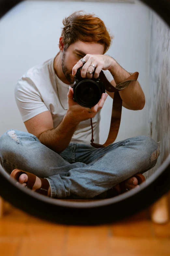
[[[74,90],[74,99],[83,107],[96,105],[101,98],[102,92],[98,84],[90,79],[78,83]]]

